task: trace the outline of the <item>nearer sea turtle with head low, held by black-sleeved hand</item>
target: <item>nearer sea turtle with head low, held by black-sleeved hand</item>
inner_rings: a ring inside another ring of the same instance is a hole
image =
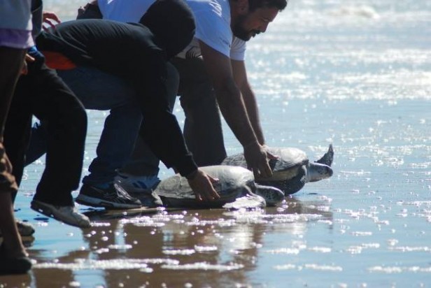
[[[188,180],[179,174],[162,180],[151,196],[142,193],[129,194],[137,197],[143,206],[147,207],[253,208],[275,206],[284,200],[284,194],[280,189],[256,184],[253,173],[246,168],[219,165],[201,167],[201,169],[219,179],[213,185],[220,195],[219,200],[198,201]]]

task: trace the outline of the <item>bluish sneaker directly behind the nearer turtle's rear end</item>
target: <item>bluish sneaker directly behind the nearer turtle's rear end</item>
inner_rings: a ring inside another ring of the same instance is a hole
[[[157,175],[133,176],[118,173],[114,178],[114,182],[131,193],[148,193],[159,185],[160,179]]]

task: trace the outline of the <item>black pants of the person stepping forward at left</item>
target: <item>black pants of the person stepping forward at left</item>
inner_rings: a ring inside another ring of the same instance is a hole
[[[43,57],[29,64],[29,73],[17,82],[5,127],[5,148],[20,185],[31,129],[31,117],[48,123],[45,171],[35,200],[57,206],[73,204],[83,168],[87,114],[71,89],[48,69]]]

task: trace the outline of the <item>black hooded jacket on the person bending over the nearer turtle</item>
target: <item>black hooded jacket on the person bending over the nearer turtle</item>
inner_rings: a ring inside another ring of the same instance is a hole
[[[141,135],[167,167],[185,176],[197,166],[167,101],[166,65],[192,40],[194,18],[181,0],[158,0],[141,23],[146,26],[108,20],[64,22],[39,35],[36,45],[42,52],[61,52],[75,64],[129,81],[143,113]]]

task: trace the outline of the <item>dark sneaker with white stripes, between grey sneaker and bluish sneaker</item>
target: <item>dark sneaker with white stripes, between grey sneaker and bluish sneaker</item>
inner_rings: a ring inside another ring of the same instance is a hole
[[[111,184],[106,189],[84,184],[75,201],[87,206],[108,209],[141,208],[141,201],[130,196],[117,184]]]

